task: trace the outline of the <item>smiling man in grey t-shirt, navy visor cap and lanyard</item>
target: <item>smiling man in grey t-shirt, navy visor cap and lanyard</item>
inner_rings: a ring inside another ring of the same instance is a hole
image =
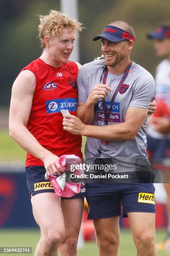
[[[135,34],[128,23],[109,24],[93,41],[100,38],[104,60],[80,69],[77,117],[65,115],[63,128],[87,136],[86,159],[144,159],[147,165],[145,124],[155,92],[154,79],[130,61]],[[126,173],[128,167],[121,172]],[[157,255],[152,183],[119,181],[86,186],[88,218],[94,221],[100,256],[118,255],[121,204],[123,216],[128,215],[130,221],[137,255]]]

